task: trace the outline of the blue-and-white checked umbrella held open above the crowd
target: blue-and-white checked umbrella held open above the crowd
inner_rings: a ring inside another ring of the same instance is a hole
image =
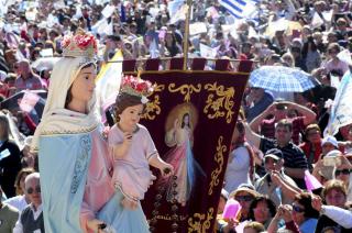
[[[251,73],[250,85],[278,92],[304,92],[319,81],[298,68],[262,66]]]

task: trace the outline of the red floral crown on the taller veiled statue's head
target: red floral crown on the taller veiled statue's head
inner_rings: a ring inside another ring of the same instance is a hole
[[[64,37],[62,48],[64,57],[94,58],[98,51],[95,36],[80,29],[75,35]]]

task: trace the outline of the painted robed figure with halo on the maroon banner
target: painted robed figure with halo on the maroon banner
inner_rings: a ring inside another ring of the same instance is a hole
[[[163,182],[167,186],[166,199],[172,201],[175,198],[183,207],[189,200],[196,177],[204,175],[193,154],[193,133],[197,119],[196,108],[190,103],[184,103],[175,107],[166,123],[165,144],[170,151],[165,154],[164,159],[174,167],[174,175],[177,176],[177,195],[173,196],[170,179]]]

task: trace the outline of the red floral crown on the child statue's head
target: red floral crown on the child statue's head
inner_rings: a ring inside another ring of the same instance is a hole
[[[146,96],[153,92],[152,82],[133,76],[124,76],[121,92],[140,97],[142,103],[147,102]]]

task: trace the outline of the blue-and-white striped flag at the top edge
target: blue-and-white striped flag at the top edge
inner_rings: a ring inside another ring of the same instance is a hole
[[[254,5],[258,1],[260,0],[220,0],[220,4],[234,18],[242,19],[256,10]]]

